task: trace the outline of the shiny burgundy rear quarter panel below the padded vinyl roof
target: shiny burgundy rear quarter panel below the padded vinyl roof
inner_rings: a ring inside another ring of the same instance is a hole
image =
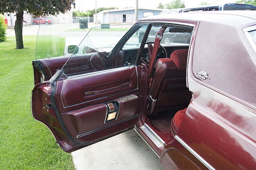
[[[198,31],[197,34],[200,32]],[[193,43],[191,45],[187,69],[189,90],[193,94],[192,101],[177,136],[214,169],[251,169],[256,164],[256,134],[254,133],[256,111],[227,94],[217,91],[214,87],[205,86],[201,79],[194,77],[196,76],[192,73],[192,59],[196,57],[194,51],[200,50],[197,48],[202,48],[205,42],[197,43],[199,43],[197,47]],[[207,43],[214,45],[210,40]],[[215,51],[218,53],[217,50]],[[200,56],[207,61],[205,55],[201,53]],[[214,60],[214,51],[211,56]],[[221,61],[216,58],[213,63],[218,62]],[[200,68],[200,65],[197,67]],[[221,70],[212,72],[210,79],[215,79],[213,76],[218,75],[219,71]],[[207,80],[203,81],[207,82]],[[226,81],[229,80],[226,79]]]

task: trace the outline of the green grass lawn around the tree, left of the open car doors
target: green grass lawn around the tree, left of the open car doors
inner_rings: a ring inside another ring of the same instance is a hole
[[[25,49],[20,50],[15,49],[15,37],[0,42],[0,169],[73,170],[71,155],[31,115],[36,37],[23,40]]]

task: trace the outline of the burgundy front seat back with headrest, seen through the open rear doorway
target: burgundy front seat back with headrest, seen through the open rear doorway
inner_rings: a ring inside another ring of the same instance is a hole
[[[175,50],[170,58],[158,59],[149,90],[148,114],[182,110],[189,105],[191,92],[186,88],[188,49]]]

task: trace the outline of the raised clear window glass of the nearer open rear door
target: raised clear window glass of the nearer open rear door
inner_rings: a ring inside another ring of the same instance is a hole
[[[71,52],[74,53],[62,68],[65,76],[77,77],[92,72],[135,65],[141,43],[140,36],[144,36],[148,24],[131,26],[92,28],[78,46],[73,45]],[[129,28],[131,29],[128,31]],[[119,45],[117,45],[118,42]]]

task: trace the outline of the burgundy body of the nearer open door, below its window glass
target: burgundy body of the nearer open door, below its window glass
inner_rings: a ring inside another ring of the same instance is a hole
[[[60,79],[55,85],[35,86],[32,114],[49,127],[64,151],[72,152],[134,127],[142,112],[139,103],[143,102],[145,68],[100,71]],[[93,91],[96,93],[86,95]],[[109,103],[115,104],[113,111]],[[114,112],[113,119],[107,120]]]

